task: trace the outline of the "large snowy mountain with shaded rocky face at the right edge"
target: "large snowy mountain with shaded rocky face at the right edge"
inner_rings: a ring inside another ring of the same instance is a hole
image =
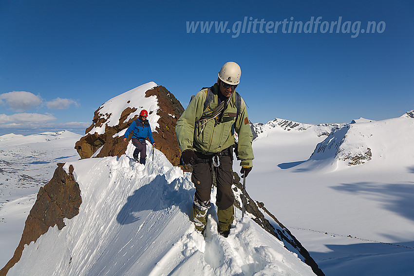
[[[408,149],[413,145],[413,127],[414,120],[410,116],[349,124],[319,143],[301,166],[325,164],[336,170],[368,162],[381,166],[385,160],[395,165],[413,162],[414,148]]]

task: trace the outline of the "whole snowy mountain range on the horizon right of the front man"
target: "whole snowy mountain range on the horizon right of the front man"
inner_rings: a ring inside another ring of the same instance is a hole
[[[329,170],[335,170],[343,166],[361,165],[372,159],[385,160],[391,156],[398,160],[411,160],[407,145],[412,144],[414,122],[407,118],[414,118],[414,110],[407,111],[399,118],[382,121],[359,118],[349,124],[312,125],[275,118],[266,124],[251,124],[251,129],[254,140],[277,131],[304,131],[318,137],[327,136],[298,168],[326,169],[328,166]],[[404,145],[405,150],[400,151],[398,145]]]

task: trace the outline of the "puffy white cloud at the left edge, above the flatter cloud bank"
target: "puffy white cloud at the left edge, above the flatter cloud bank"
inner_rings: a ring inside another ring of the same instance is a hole
[[[13,110],[29,110],[42,103],[42,98],[39,95],[26,91],[13,91],[0,94],[1,104],[3,104],[3,100]]]

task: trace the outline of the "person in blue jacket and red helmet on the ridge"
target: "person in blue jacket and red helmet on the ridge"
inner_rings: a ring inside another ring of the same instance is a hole
[[[132,144],[136,147],[133,152],[133,159],[138,162],[138,154],[141,153],[139,163],[144,165],[147,158],[147,142],[145,139],[148,137],[152,146],[155,146],[154,139],[152,138],[151,126],[147,120],[147,116],[147,110],[141,110],[138,119],[131,123],[130,127],[124,134],[124,141],[127,142],[128,136],[132,131]]]

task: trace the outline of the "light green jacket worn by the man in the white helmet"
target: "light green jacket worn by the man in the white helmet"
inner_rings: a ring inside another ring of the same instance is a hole
[[[218,104],[217,93],[220,93],[220,91],[218,90],[217,83],[214,84],[212,91],[214,96],[206,111],[216,108]],[[253,166],[253,135],[249,125],[245,101],[242,99],[237,121],[235,92],[233,92],[232,99],[226,110],[224,110],[221,119],[212,119],[205,125],[201,123],[196,124],[203,114],[206,97],[207,89],[198,92],[177,121],[175,132],[181,151],[192,149],[207,155],[220,152],[234,145],[235,130],[239,137],[238,152],[239,159],[242,160],[240,166]]]

